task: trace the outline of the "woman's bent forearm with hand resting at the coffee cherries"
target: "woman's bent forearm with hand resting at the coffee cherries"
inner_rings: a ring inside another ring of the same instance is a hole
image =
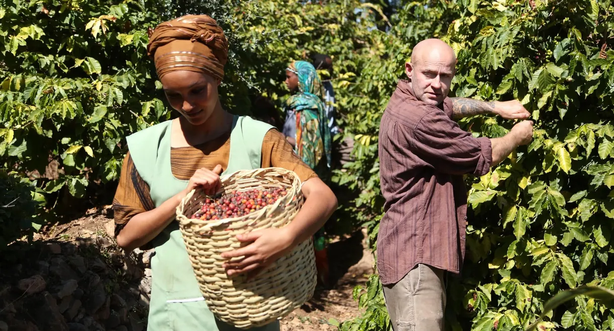
[[[139,213],[126,223],[117,234],[117,245],[126,251],[141,247],[155,238],[168,224],[175,219],[176,208],[188,192],[201,186],[207,194],[214,194],[222,185],[219,174],[222,166],[217,165],[213,171],[201,168],[196,170],[187,188],[166,200],[160,206],[152,210]]]

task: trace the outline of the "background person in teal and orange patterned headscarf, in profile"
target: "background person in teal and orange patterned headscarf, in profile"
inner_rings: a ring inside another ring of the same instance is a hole
[[[326,122],[322,84],[316,69],[306,61],[294,61],[286,68],[286,86],[292,96],[286,101],[283,133],[294,151],[319,178],[330,183],[331,138]],[[328,286],[328,254],[324,228],[314,236],[319,282]]]

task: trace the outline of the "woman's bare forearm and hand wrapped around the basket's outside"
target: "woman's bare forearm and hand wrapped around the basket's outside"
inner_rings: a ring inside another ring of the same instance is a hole
[[[299,243],[311,238],[324,226],[337,208],[335,194],[317,177],[305,181],[301,191],[305,196],[305,203],[290,224],[281,229],[257,230],[238,235],[240,242],[252,243],[235,251],[222,253],[225,259],[243,256],[239,261],[227,262],[224,265],[229,276],[244,272],[250,272],[250,276],[256,275],[279,257],[292,251]]]

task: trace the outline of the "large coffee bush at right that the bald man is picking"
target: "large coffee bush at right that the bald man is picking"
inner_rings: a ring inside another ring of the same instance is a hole
[[[613,10],[610,1],[594,0],[418,1],[398,10],[392,21],[403,28],[383,37],[408,47],[416,42],[414,31],[424,31],[421,38],[446,40],[458,58],[452,96],[518,99],[535,121],[529,146],[518,148],[487,175],[467,178],[473,216],[465,267],[448,286],[448,329],[524,330],[542,313],[544,302],[562,290],[585,283],[614,286],[608,267],[614,225],[614,51],[608,46],[614,37]],[[412,21],[416,12],[439,17],[437,22],[447,27],[425,29],[422,21]],[[402,54],[407,58],[411,53]],[[385,70],[392,64],[373,66]],[[402,65],[395,61],[394,72],[402,74]],[[385,84],[381,91],[392,90],[394,82],[378,78],[363,72],[360,79]],[[383,99],[376,99],[382,103],[370,112],[356,112],[357,117],[370,116],[367,121],[352,124],[363,136],[345,178],[360,178],[357,185],[364,188],[379,184],[373,140]],[[476,137],[499,137],[512,125],[488,116],[462,121]],[[366,213],[381,213],[379,192],[367,190],[360,199],[371,207],[364,208]],[[375,238],[377,224],[369,225]],[[375,276],[356,293],[366,313],[344,323],[342,330],[389,329],[373,281]],[[613,322],[610,306],[580,295],[536,326],[612,330]]]

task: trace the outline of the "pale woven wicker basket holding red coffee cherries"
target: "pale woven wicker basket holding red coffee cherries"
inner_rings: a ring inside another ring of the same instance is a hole
[[[306,240],[251,280],[245,275],[227,276],[222,265],[228,259],[220,254],[246,245],[236,240],[238,234],[289,224],[303,205],[301,183],[296,173],[282,168],[241,170],[220,180],[218,194],[287,190],[273,205],[217,221],[190,218],[207,198],[200,189],[190,192],[177,207],[185,247],[209,310],[240,329],[266,325],[287,316],[313,295],[317,278],[313,243]]]

